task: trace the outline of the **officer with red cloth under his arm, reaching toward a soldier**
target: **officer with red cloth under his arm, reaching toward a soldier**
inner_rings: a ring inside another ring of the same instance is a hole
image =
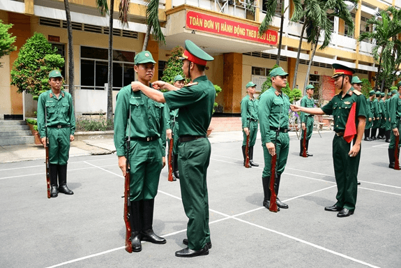
[[[324,107],[305,108],[292,105],[292,110],[310,114],[333,114],[335,131],[333,164],[338,192],[336,195],[337,202],[324,209],[326,211],[339,211],[338,217],[347,217],[354,214],[356,204],[357,175],[361,158],[361,140],[365,130],[366,101],[361,92],[356,91],[351,86],[351,79],[355,70],[341,64],[333,64],[333,68],[335,68],[333,74],[335,88],[341,89],[340,94],[335,95]],[[356,103],[355,114],[351,114],[351,107],[354,103]],[[349,118],[351,120],[349,122],[355,124],[356,127],[356,135],[350,143],[344,137]]]

